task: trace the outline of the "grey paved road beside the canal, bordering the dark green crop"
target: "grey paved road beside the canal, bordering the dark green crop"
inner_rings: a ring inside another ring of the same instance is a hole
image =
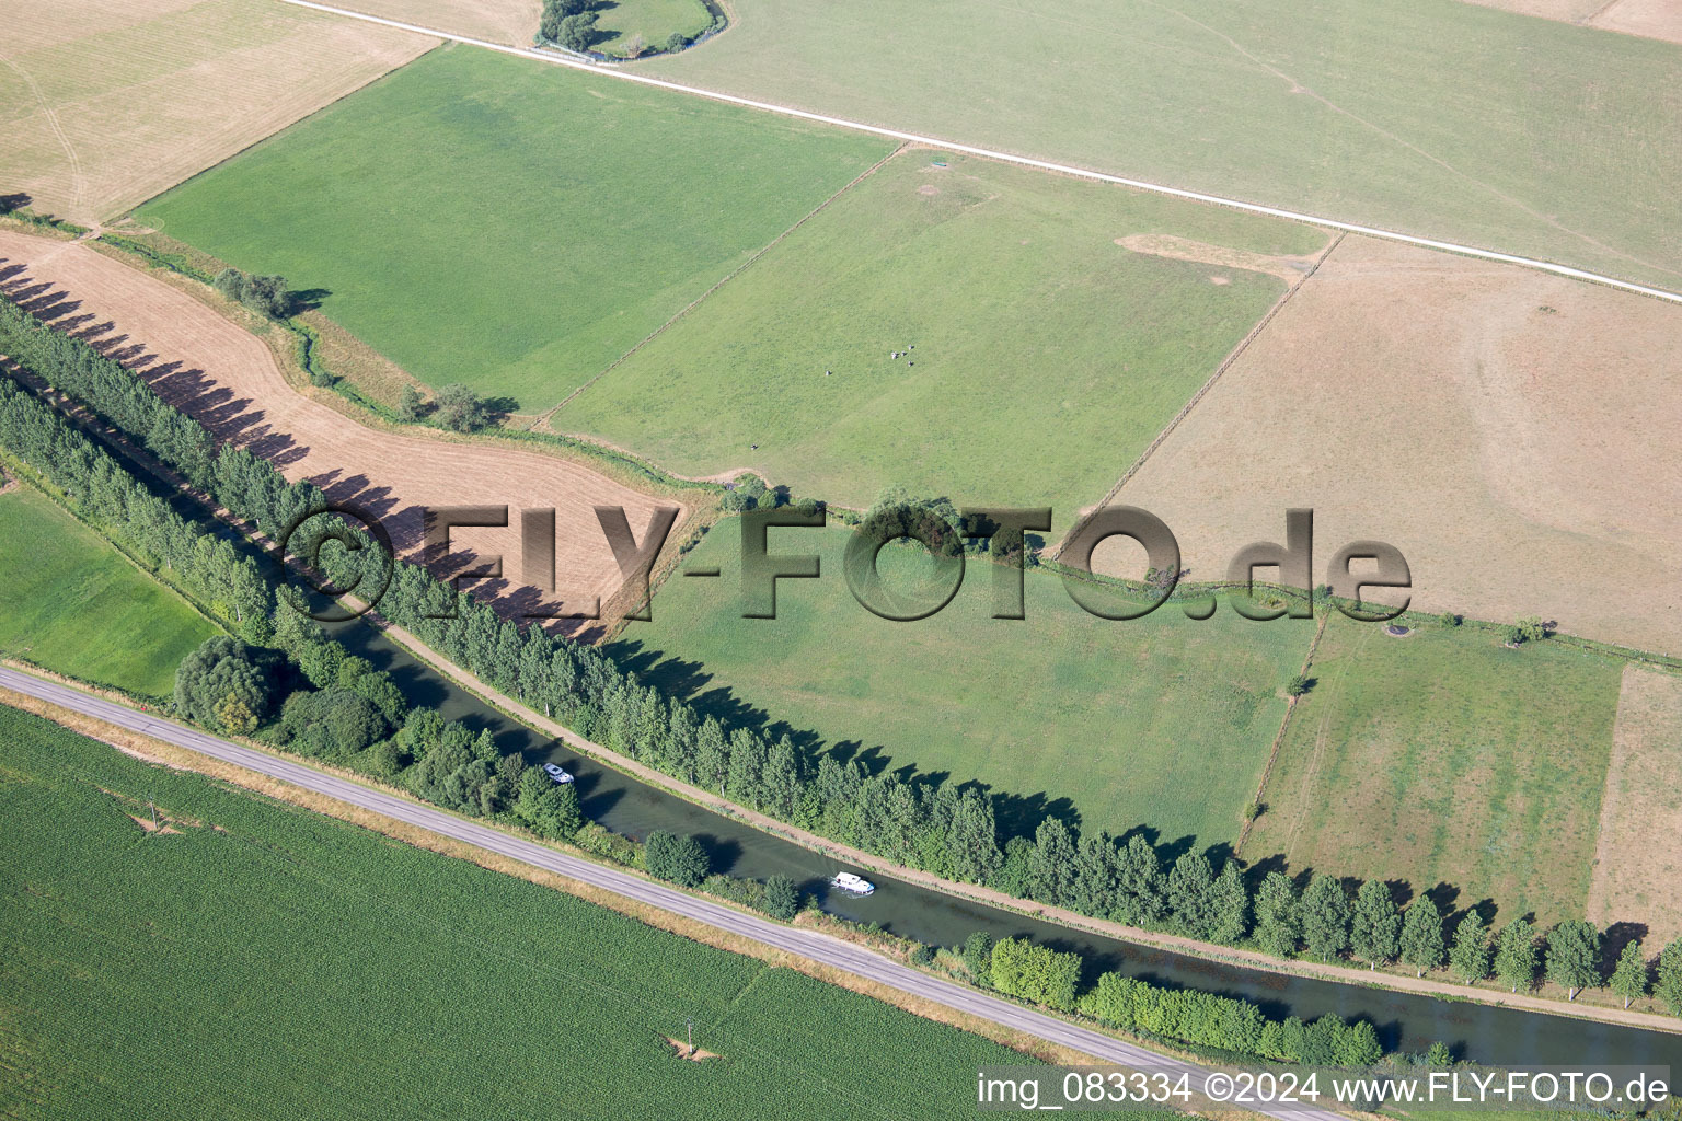
[[[674,887],[651,882],[641,876],[604,867],[563,852],[555,852],[545,845],[511,837],[486,825],[478,825],[451,813],[444,813],[442,810],[434,810],[405,798],[370,790],[345,778],[325,775],[301,763],[267,755],[266,751],[219,739],[217,736],[202,733],[195,728],[187,728],[185,724],[178,724],[153,713],[140,713],[123,704],[87,696],[79,689],[52,681],[42,681],[40,677],[24,674],[15,669],[0,667],[0,686],[76,713],[82,713],[84,716],[103,719],[130,731],[145,733],[156,739],[173,743],[175,746],[187,748],[188,751],[198,751],[200,755],[235,763],[261,775],[267,775],[269,778],[278,778],[279,782],[313,790],[316,793],[338,798],[340,802],[348,802],[350,805],[382,813],[407,825],[426,829],[442,837],[496,852],[511,860],[520,860],[521,864],[530,864],[532,867],[567,876],[594,887],[602,887],[617,896],[636,899],[637,903],[646,903],[698,923],[706,923],[708,926],[738,934],[742,938],[750,938],[760,945],[801,955],[802,958],[844,970],[854,976],[897,988],[913,997],[922,997],[937,1005],[965,1012],[1002,1027],[1036,1035],[1053,1044],[1061,1044],[1103,1062],[1166,1071],[1174,1079],[1177,1079],[1179,1074],[1186,1074],[1191,1079],[1194,1092],[1203,1089],[1203,1081],[1208,1074],[1203,1067],[1189,1062],[1167,1059],[1145,1050],[1144,1047],[1135,1047],[1100,1032],[1092,1032],[1075,1024],[1041,1015],[1031,1008],[1023,1008],[1021,1005],[1009,1003],[1008,1000],[989,997],[987,993],[974,988],[928,976],[927,973],[918,973],[917,970],[890,961],[881,955],[844,943],[838,938],[743,914],[732,908],[698,899]],[[1342,1121],[1336,1113],[1325,1109],[1267,1109],[1263,1113],[1272,1118],[1280,1118],[1280,1121]]]

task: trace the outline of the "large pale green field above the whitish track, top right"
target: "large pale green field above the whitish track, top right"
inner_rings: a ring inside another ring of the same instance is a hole
[[[1682,287],[1682,45],[1460,0],[742,0],[674,81]]]

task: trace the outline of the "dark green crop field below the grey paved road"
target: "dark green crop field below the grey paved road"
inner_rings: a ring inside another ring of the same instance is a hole
[[[0,743],[12,1118],[957,1118],[952,1071],[1029,1062],[15,709]]]

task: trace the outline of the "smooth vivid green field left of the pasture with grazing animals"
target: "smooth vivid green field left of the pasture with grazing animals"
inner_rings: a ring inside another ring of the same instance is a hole
[[[464,382],[537,412],[888,151],[456,47],[138,217],[328,289],[325,314],[432,387]]]

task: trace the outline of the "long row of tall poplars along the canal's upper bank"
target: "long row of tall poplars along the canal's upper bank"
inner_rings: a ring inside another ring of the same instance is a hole
[[[124,366],[86,341],[37,324],[3,299],[0,343],[39,376],[77,397],[204,486],[237,518],[276,529],[304,511],[325,509],[323,496],[311,484],[288,484],[272,464],[241,449],[214,452],[209,434],[195,420],[161,402]],[[50,408],[45,412],[52,417]],[[62,429],[62,422],[57,427]],[[39,445],[40,434],[30,439]],[[323,553],[335,582],[340,587],[358,578],[378,583],[389,565],[380,613],[493,689],[639,763],[895,864],[1199,941],[1236,945],[1253,939],[1277,956],[1307,953],[1334,961],[1347,955],[1374,968],[1399,961],[1420,973],[1447,960],[1468,983],[1484,980],[1494,966],[1495,948],[1477,911],[1462,916],[1450,943],[1445,929],[1450,916],[1441,914],[1435,901],[1421,896],[1401,909],[1388,884],[1376,879],[1351,892],[1334,876],[1319,874],[1299,886],[1283,872],[1270,872],[1251,887],[1233,859],[1216,867],[1206,854],[1184,852],[1164,867],[1161,854],[1140,832],[1082,834],[1056,817],[1041,820],[1033,839],[1009,837],[1001,845],[994,802],[976,785],[932,783],[897,770],[871,773],[863,761],[834,751],[814,758],[787,734],[770,738],[750,726],[730,726],[700,713],[681,696],[666,696],[644,684],[592,645],[550,635],[540,627],[521,632],[488,603],[434,578],[424,566],[385,556],[365,536],[363,545]],[[241,571],[251,571],[242,576],[247,583],[256,578],[254,570]],[[251,590],[252,602],[271,603],[271,595],[266,585]],[[261,622],[251,624],[254,640],[267,642],[271,634],[289,625],[288,615],[294,612],[284,608],[278,622],[269,624],[264,612]],[[281,645],[288,640],[281,639]],[[304,716],[298,719],[304,726]],[[426,790],[451,798],[449,805],[458,805],[456,798],[501,805],[513,797],[506,776],[495,785],[496,775],[484,775],[474,766],[473,753],[456,746],[426,773]],[[1549,950],[1547,976],[1566,985],[1573,997],[1578,988],[1608,983],[1610,978],[1600,973],[1598,933],[1591,939],[1593,953],[1586,955],[1593,963],[1589,971],[1579,965],[1584,960],[1578,950],[1581,929],[1561,928],[1549,933],[1544,946],[1559,945],[1558,951]],[[1645,993],[1645,960],[1642,965]],[[1633,992],[1633,976],[1632,966],[1618,983]],[[1658,995],[1682,1013],[1682,939],[1660,958]]]

